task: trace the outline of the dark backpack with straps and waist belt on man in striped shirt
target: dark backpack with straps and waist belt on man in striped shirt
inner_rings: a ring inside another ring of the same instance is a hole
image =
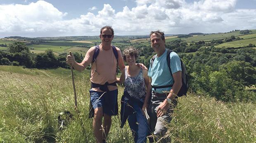
[[[171,73],[171,76],[173,76],[172,72],[171,72],[171,59],[170,59],[170,54],[171,52],[173,52],[172,50],[168,50],[167,54],[166,54],[166,60],[167,60],[167,65],[169,68],[169,71]],[[154,55],[151,59],[150,62],[150,67],[152,67],[153,62],[156,58],[156,55]],[[180,88],[180,91],[178,92],[178,97],[182,97],[183,95],[186,96],[187,94],[187,89],[188,89],[188,81],[187,81],[187,70],[185,67],[185,64],[182,62],[182,60],[180,59],[180,64],[181,64],[181,69],[182,69],[182,73],[181,73],[181,77],[182,77],[182,86]],[[175,82],[175,81],[174,81]],[[164,85],[164,86],[152,86],[152,88],[156,89],[156,88],[168,88],[168,87],[172,87],[173,85]]]

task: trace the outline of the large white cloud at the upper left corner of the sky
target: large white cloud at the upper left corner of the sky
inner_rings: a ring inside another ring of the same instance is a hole
[[[66,14],[42,0],[28,5],[0,5],[0,33],[47,31],[45,24],[61,21]]]

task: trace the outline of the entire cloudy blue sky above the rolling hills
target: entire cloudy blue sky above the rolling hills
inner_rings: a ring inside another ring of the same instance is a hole
[[[256,29],[256,0],[0,0],[0,38]]]

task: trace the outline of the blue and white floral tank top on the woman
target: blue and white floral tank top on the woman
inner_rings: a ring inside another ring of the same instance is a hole
[[[146,95],[146,86],[142,75],[142,69],[140,69],[139,74],[135,77],[130,77],[127,70],[128,69],[125,67],[124,90],[128,92],[131,97],[141,99]]]

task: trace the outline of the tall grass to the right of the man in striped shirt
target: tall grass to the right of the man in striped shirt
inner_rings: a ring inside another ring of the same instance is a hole
[[[256,142],[256,105],[189,95],[179,99],[168,136],[173,142]]]

